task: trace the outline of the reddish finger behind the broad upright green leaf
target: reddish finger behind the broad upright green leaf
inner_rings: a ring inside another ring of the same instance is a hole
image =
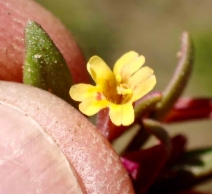
[[[0,0],[0,79],[22,82],[24,28],[39,23],[63,54],[75,83],[88,82],[85,60],[71,34],[50,12],[32,0]]]

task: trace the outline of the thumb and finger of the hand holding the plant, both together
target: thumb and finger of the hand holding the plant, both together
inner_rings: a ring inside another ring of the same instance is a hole
[[[71,35],[49,12],[27,0],[0,0],[0,79],[22,80],[28,19],[49,32],[75,82],[87,82],[84,59]],[[49,92],[1,81],[0,126],[0,193],[134,193],[107,140]]]

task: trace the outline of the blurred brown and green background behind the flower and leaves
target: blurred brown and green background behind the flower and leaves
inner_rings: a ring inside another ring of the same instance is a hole
[[[146,57],[163,90],[177,64],[180,36],[189,31],[195,48],[194,70],[184,96],[212,96],[211,0],[36,0],[71,31],[86,59],[101,56],[113,66],[129,50]],[[212,121],[166,126],[189,136],[189,148],[212,146]],[[204,186],[211,190],[211,186]]]

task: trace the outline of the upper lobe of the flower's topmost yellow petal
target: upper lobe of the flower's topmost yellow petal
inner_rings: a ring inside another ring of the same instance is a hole
[[[123,67],[129,63],[131,63],[135,58],[138,57],[138,53],[134,51],[129,51],[121,56],[115,63],[113,68],[113,73],[115,75],[121,75],[121,71]]]

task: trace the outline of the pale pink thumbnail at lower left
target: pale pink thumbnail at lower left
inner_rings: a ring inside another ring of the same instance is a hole
[[[33,119],[1,103],[0,123],[0,193],[83,193],[73,167]]]

